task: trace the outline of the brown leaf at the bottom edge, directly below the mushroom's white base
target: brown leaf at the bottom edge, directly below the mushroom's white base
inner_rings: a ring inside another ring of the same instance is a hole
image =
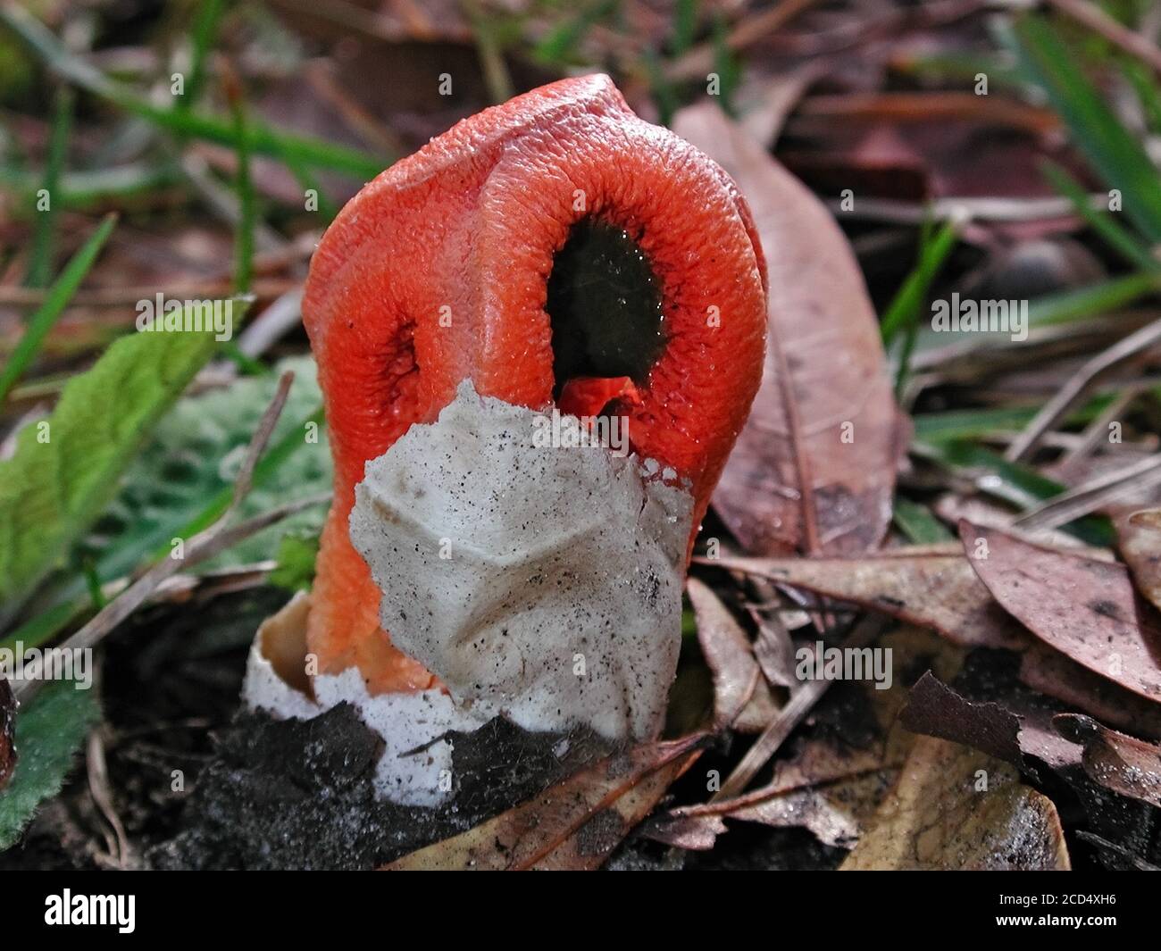
[[[611,756],[387,871],[596,869],[700,752],[706,734]]]

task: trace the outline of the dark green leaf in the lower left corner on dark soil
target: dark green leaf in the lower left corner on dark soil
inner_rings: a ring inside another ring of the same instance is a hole
[[[45,799],[60,792],[89,729],[101,709],[92,690],[72,680],[55,680],[16,715],[16,771],[0,792],[0,850],[23,831]]]

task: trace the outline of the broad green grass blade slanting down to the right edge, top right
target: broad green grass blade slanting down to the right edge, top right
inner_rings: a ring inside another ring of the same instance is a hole
[[[1125,215],[1149,243],[1161,242],[1156,166],[1076,65],[1076,51],[1036,14],[1021,17],[1016,37],[1024,69],[1065,121],[1073,144],[1109,188],[1120,190]]]

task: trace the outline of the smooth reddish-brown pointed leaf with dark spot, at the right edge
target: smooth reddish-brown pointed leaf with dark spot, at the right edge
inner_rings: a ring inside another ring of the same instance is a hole
[[[1128,569],[960,523],[968,561],[993,597],[1050,647],[1161,700],[1161,628]]]

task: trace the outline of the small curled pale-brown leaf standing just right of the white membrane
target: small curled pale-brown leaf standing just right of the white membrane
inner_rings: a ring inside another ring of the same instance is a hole
[[[728,727],[744,718],[750,729],[742,732],[753,732],[753,727],[760,732],[777,707],[750,640],[706,584],[690,578],[685,590],[698,619],[698,643],[714,678],[714,726]]]

